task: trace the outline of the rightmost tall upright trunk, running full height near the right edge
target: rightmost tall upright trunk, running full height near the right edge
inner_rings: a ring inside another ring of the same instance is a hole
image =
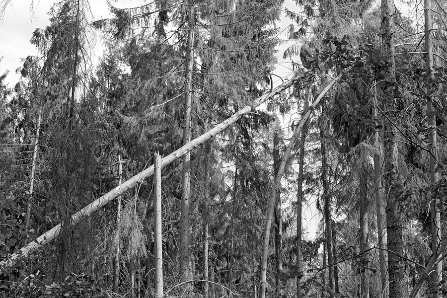
[[[437,197],[437,185],[439,182],[439,173],[436,171],[438,166],[438,148],[437,148],[437,132],[436,132],[436,111],[433,106],[434,89],[433,81],[435,75],[433,73],[433,41],[431,35],[432,16],[431,16],[431,0],[424,0],[424,16],[425,16],[425,62],[427,69],[427,124],[429,127],[429,150],[430,150],[430,209],[432,224],[432,253],[436,254],[441,244],[441,212],[438,207],[442,203],[441,198]],[[431,292],[433,298],[442,296],[441,283],[443,281],[443,262],[439,262],[435,266],[432,273]]]

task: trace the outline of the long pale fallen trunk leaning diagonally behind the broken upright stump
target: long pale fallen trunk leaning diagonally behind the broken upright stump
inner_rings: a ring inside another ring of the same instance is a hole
[[[278,87],[274,88],[270,92],[256,98],[254,102],[250,105],[245,106],[243,109],[239,110],[235,114],[233,114],[228,119],[224,120],[222,123],[211,129],[210,131],[206,132],[205,134],[201,135],[200,137],[197,137],[196,139],[192,140],[188,144],[185,144],[180,149],[177,149],[176,151],[172,152],[171,154],[163,157],[161,159],[161,167],[165,167],[166,165],[172,163],[177,158],[180,158],[187,152],[191,151],[192,149],[196,148],[197,146],[203,144],[205,141],[213,138],[217,134],[221,133],[224,129],[226,129],[228,126],[235,123],[237,120],[239,120],[244,114],[247,114],[252,111],[252,109],[255,109],[260,104],[264,103],[268,99],[272,98],[273,96],[281,93],[282,91],[288,89],[291,87],[297,80],[303,79],[305,74],[295,74],[290,80],[282,83]],[[93,212],[97,211],[98,209],[104,207],[112,200],[116,199],[118,196],[124,194],[131,188],[133,188],[137,183],[145,180],[146,178],[153,175],[153,165],[149,168],[141,171],[137,175],[133,176],[129,180],[123,182],[123,184],[117,186],[116,188],[112,189],[105,195],[101,196],[100,198],[96,199],[94,202],[90,203],[83,209],[76,212],[72,218],[71,223],[72,225],[78,224],[82,219],[89,217]],[[56,225],[52,229],[48,230],[47,232],[43,233],[39,237],[37,237],[36,240],[33,242],[30,242],[28,245],[22,247],[18,252],[13,253],[6,259],[2,260],[0,262],[0,269],[5,269],[8,267],[11,267],[15,264],[15,262],[19,258],[27,258],[33,251],[38,249],[39,247],[50,243],[53,241],[56,237],[59,236],[61,233],[61,224]]]

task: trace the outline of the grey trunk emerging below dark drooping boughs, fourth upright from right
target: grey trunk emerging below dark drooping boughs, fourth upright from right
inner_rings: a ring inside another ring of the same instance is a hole
[[[365,172],[360,174],[360,252],[367,251],[368,245],[368,192],[367,177]],[[362,266],[360,267],[360,298],[370,298],[370,258],[369,253],[361,256]]]

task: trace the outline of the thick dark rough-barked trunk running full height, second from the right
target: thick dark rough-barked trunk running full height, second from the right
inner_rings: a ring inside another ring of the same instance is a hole
[[[394,28],[393,28],[394,4],[392,0],[381,1],[382,15],[382,54],[388,59],[389,66],[385,71],[386,86],[384,92],[384,103],[387,111],[396,110],[394,98],[395,64],[394,64]],[[385,143],[385,192],[388,194],[386,207],[386,225],[388,250],[393,251],[388,255],[388,278],[389,278],[389,298],[404,298],[407,293],[405,285],[404,262],[400,260],[403,255],[402,221],[401,212],[397,198],[397,187],[399,185],[398,169],[398,147],[397,134],[394,125],[397,123],[396,115],[388,112],[388,119],[384,121],[384,143]],[[394,121],[392,123],[391,121]],[[394,125],[393,125],[394,124]]]

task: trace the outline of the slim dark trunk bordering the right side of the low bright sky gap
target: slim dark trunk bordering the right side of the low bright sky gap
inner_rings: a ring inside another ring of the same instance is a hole
[[[324,109],[321,108],[321,116],[324,117]],[[335,283],[334,283],[334,256],[332,250],[332,217],[331,217],[331,203],[329,193],[329,177],[328,164],[326,155],[326,137],[325,131],[328,129],[326,120],[320,119],[320,138],[321,138],[321,182],[323,185],[323,211],[324,221],[326,225],[326,247],[327,247],[327,263],[328,263],[328,279],[329,279],[329,296],[335,297]]]

